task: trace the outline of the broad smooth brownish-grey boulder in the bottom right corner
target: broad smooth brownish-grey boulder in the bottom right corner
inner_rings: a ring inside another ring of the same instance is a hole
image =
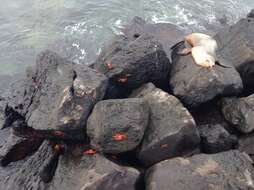
[[[250,190],[254,170],[246,154],[229,151],[158,163],[146,175],[146,190]]]

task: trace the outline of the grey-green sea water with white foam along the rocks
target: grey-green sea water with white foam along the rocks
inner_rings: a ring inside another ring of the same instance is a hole
[[[186,32],[215,32],[254,8],[254,0],[1,0],[0,75],[15,75],[52,49],[80,64],[134,16]]]

